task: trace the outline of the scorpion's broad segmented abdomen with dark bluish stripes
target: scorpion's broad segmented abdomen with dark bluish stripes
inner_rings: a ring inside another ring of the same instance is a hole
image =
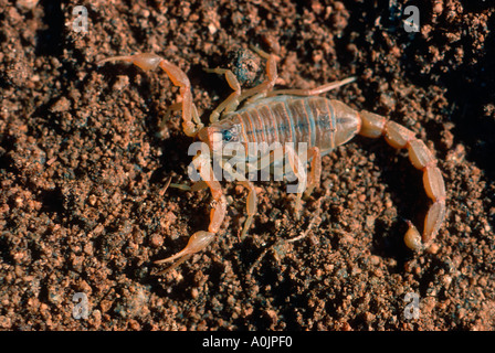
[[[338,100],[323,97],[276,96],[240,109],[231,117],[241,124],[245,142],[306,142],[322,154],[352,138],[358,114]]]

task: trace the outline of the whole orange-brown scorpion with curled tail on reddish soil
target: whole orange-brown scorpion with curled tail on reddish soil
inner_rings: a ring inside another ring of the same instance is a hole
[[[404,243],[414,252],[428,248],[433,243],[445,218],[446,194],[442,173],[436,165],[438,160],[425,143],[418,139],[412,130],[388,120],[386,117],[367,110],[357,111],[339,100],[319,96],[354,82],[355,77],[312,89],[274,89],[277,78],[276,56],[257,47],[253,47],[253,50],[266,60],[265,78],[255,87],[242,90],[238,78],[230,69],[206,68],[208,73],[224,75],[227,83],[233,89],[228,98],[212,110],[210,125],[207,127],[201,122],[193,103],[188,76],[169,61],[156,54],[139,53],[108,57],[99,61],[97,65],[106,62],[127,62],[144,71],[160,67],[172,84],[179,87],[181,98],[179,103],[168,107],[166,116],[170,116],[173,110],[181,110],[182,130],[188,137],[204,142],[213,156],[219,156],[222,147],[228,142],[242,145],[262,141],[280,142],[282,153],[278,156],[288,157],[291,170],[298,178],[299,185],[306,186],[306,194],[310,194],[319,185],[323,156],[346,143],[358,133],[368,138],[383,136],[391,147],[407,149],[412,165],[423,172],[423,186],[432,204],[424,220],[422,235],[410,221],[407,221],[409,228],[404,235]],[[238,109],[240,105],[241,109]],[[285,142],[306,142],[307,159],[299,158],[297,150]],[[266,156],[259,157],[259,161],[274,158],[274,156],[275,153],[272,151]],[[222,156],[219,160],[222,169],[231,167]],[[305,163],[310,165],[308,173],[305,172],[305,165],[303,165]],[[182,250],[155,261],[157,265],[172,263],[169,267],[172,268],[193,254],[203,250],[214,239],[224,220],[227,199],[220,181],[213,172],[211,156],[197,153],[192,158],[191,165],[197,169],[201,181],[194,183],[189,190],[210,189],[213,199],[208,231],[192,234]],[[238,182],[249,191],[242,238],[247,233],[256,212],[256,191],[252,181],[240,178],[243,175],[239,175],[239,173],[241,172],[238,172]],[[303,191],[299,188],[296,195],[296,217],[301,211]]]

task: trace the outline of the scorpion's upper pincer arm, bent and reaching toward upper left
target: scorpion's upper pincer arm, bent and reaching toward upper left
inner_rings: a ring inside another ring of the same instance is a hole
[[[123,61],[131,63],[144,71],[155,69],[160,67],[164,69],[175,86],[179,87],[180,96],[182,97],[182,129],[189,137],[194,137],[198,131],[203,127],[198,110],[192,103],[191,84],[188,76],[178,66],[171,64],[167,60],[150,53],[141,53],[135,55],[113,56],[102,60],[97,65],[102,65],[106,62]],[[177,106],[171,108],[177,109]]]

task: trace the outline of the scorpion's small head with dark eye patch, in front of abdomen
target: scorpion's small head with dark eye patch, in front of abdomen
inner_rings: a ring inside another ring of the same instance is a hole
[[[208,145],[213,153],[222,153],[227,143],[242,142],[239,126],[232,121],[213,122],[198,132],[198,138]]]

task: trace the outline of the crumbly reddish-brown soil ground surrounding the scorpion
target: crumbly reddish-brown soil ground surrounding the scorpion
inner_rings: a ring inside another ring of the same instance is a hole
[[[364,0],[170,2],[92,1],[77,33],[78,0],[0,0],[0,328],[494,330],[488,1],[417,1],[419,33],[404,31],[402,1],[396,11]],[[356,138],[324,158],[299,221],[284,183],[257,183],[243,240],[245,190],[223,183],[218,239],[154,276],[154,260],[207,227],[210,194],[165,190],[169,176],[189,182],[191,142],[178,118],[157,133],[177,98],[165,73],[95,63],[158,53],[188,73],[208,114],[230,88],[202,67],[231,65],[254,84],[263,63],[245,49],[268,44],[280,86],[356,75],[328,96],[389,116],[435,150],[449,213],[430,252],[402,242],[403,220],[421,225],[428,210],[421,173],[383,140]],[[76,292],[87,319],[73,318]],[[404,315],[410,292],[417,319]]]

